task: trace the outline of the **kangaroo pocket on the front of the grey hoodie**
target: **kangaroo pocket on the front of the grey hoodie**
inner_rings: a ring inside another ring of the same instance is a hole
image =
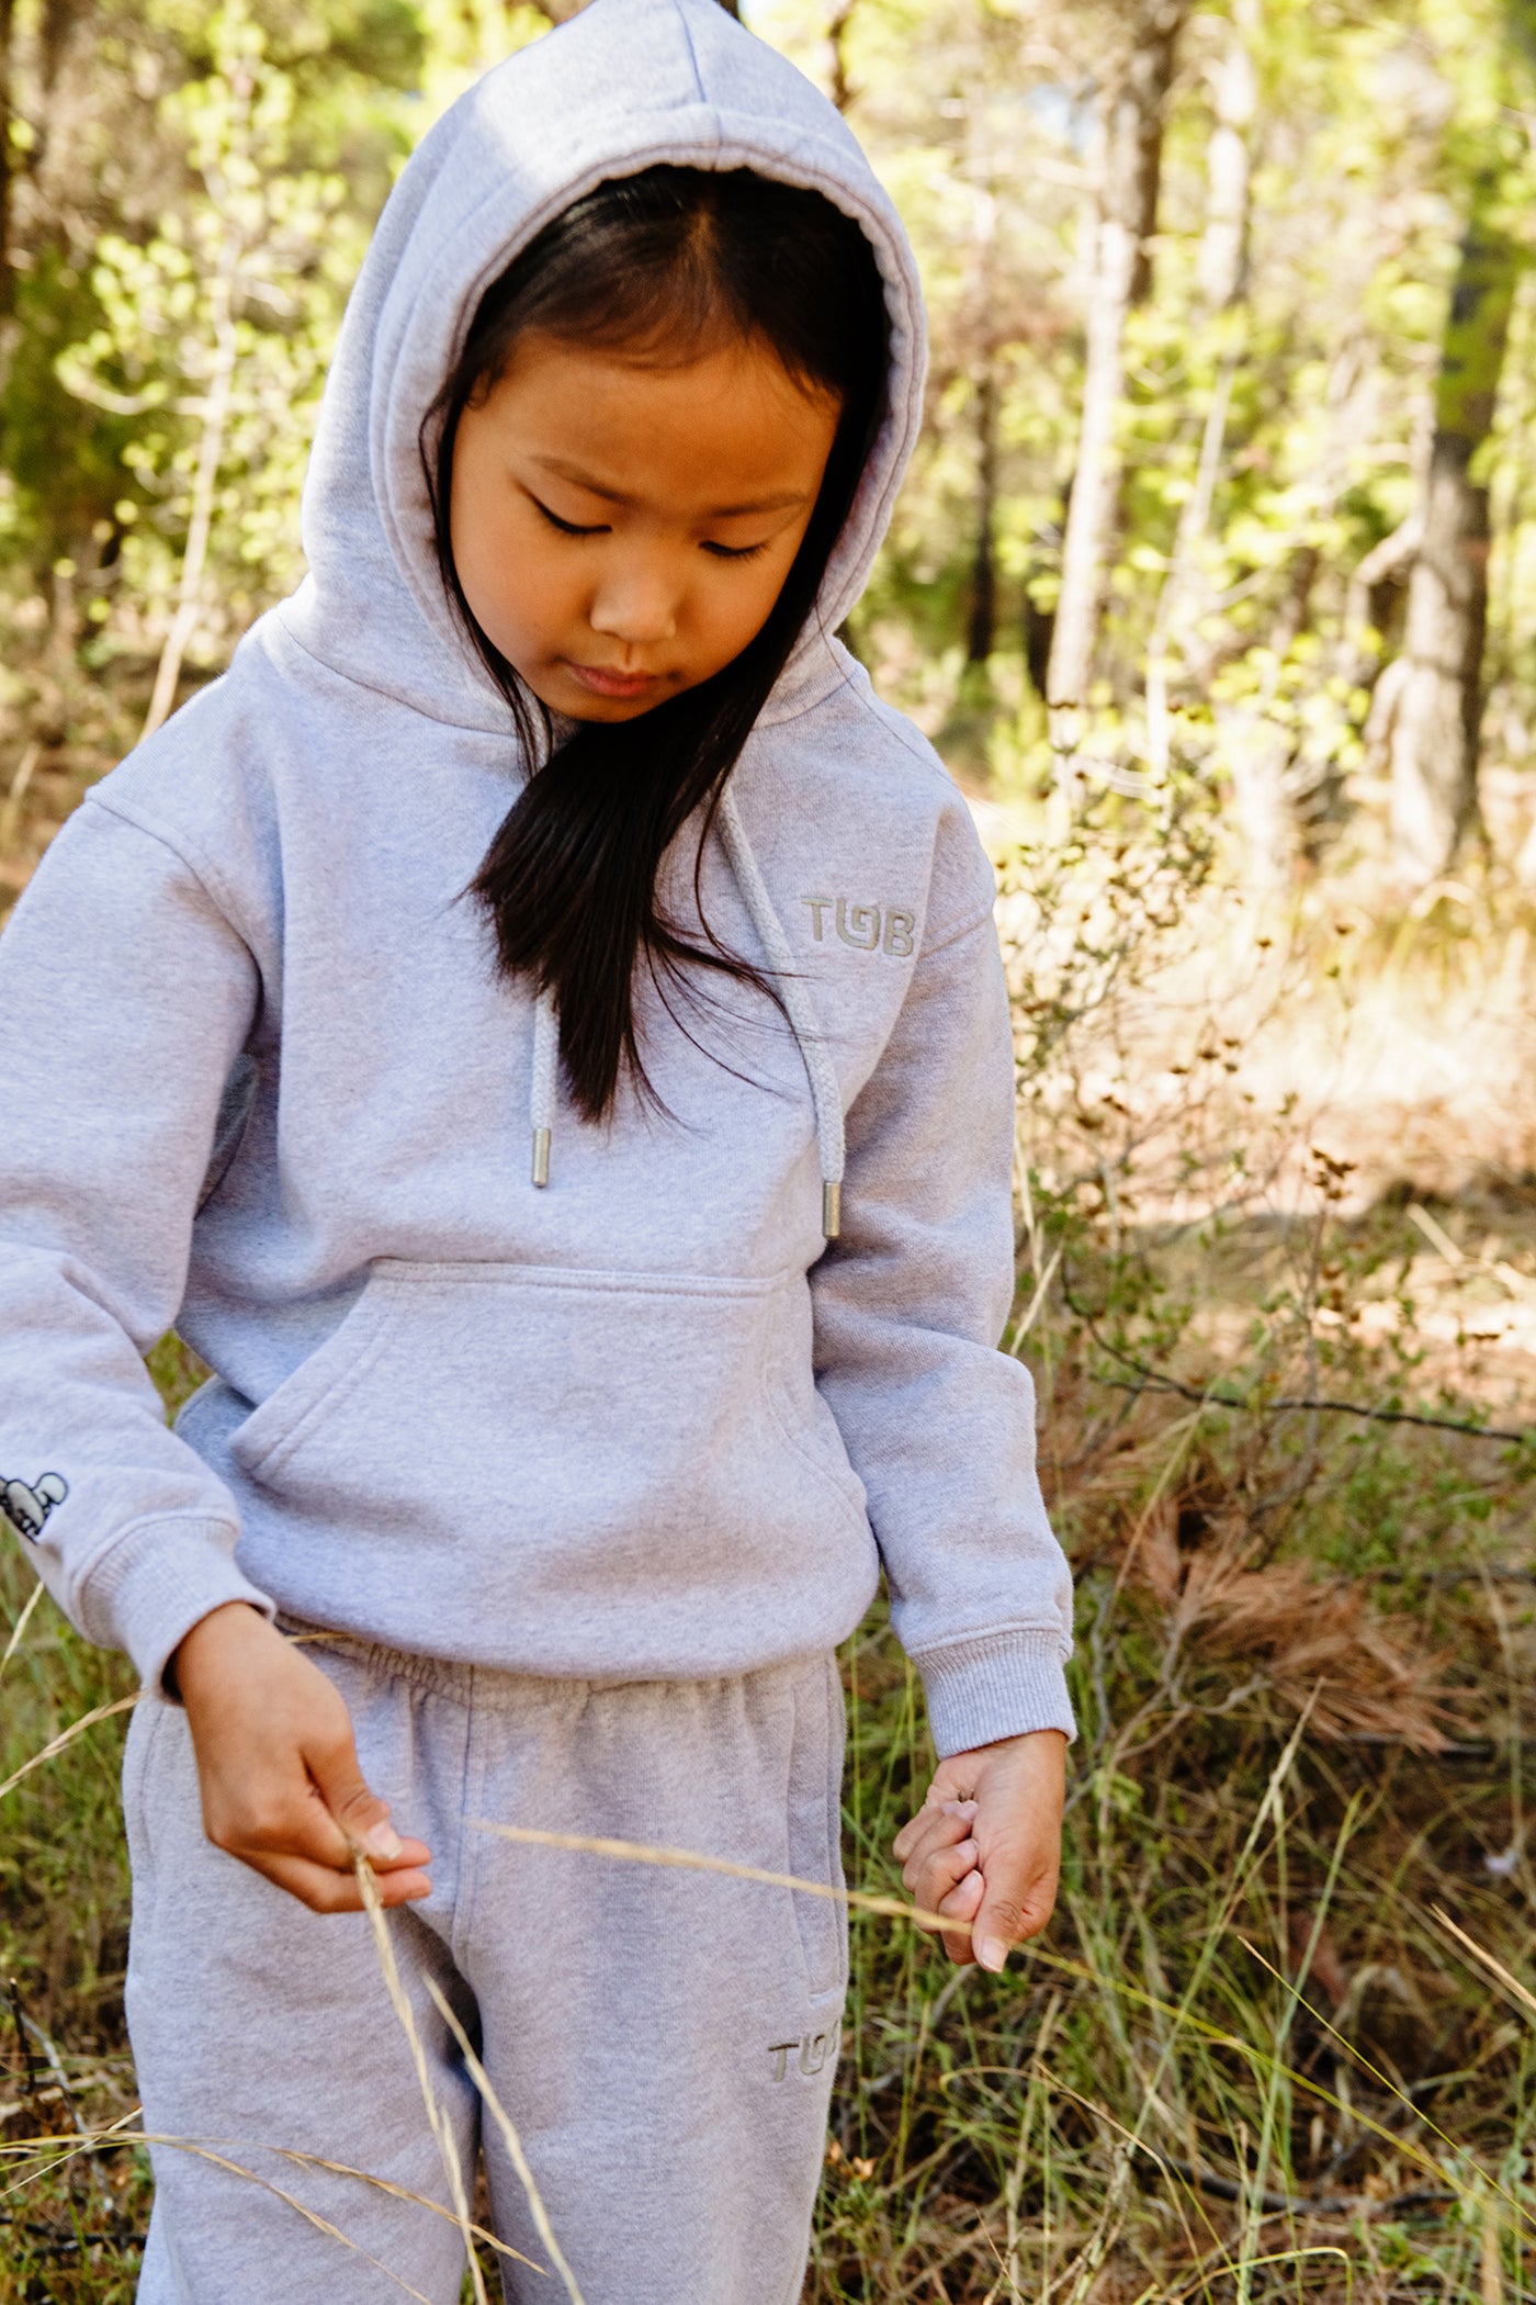
[[[656,1609],[732,1547],[868,1544],[799,1272],[380,1261],[230,1454],[288,1521],[516,1556],[523,1597],[548,1572],[564,1607],[626,1560]]]

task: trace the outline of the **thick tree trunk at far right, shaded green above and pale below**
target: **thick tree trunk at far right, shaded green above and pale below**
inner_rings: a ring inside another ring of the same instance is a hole
[[[1499,221],[1499,173],[1472,189],[1435,387],[1423,542],[1407,595],[1405,673],[1391,731],[1393,867],[1412,883],[1446,871],[1478,807],[1488,484],[1472,477],[1492,431],[1520,254]]]

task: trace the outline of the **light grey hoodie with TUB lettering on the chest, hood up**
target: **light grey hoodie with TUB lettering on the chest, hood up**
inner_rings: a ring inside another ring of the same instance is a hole
[[[511,254],[654,161],[857,217],[896,362],[820,629],[702,851],[705,917],[778,970],[792,1030],[753,989],[682,1021],[642,991],[666,1116],[622,1097],[592,1127],[463,897],[525,768],[444,604],[417,424]],[[912,449],[921,348],[859,148],[716,0],[596,0],[403,171],[327,383],[309,576],[88,795],[0,940],[0,1505],[150,1685],[228,1600],[511,1671],[702,1680],[841,1641],[884,1563],[942,1752],[1071,1729],[1071,1581],[1029,1378],[995,1348],[993,876],[827,638]],[[216,1371],[175,1434],[140,1360],[173,1323]]]

